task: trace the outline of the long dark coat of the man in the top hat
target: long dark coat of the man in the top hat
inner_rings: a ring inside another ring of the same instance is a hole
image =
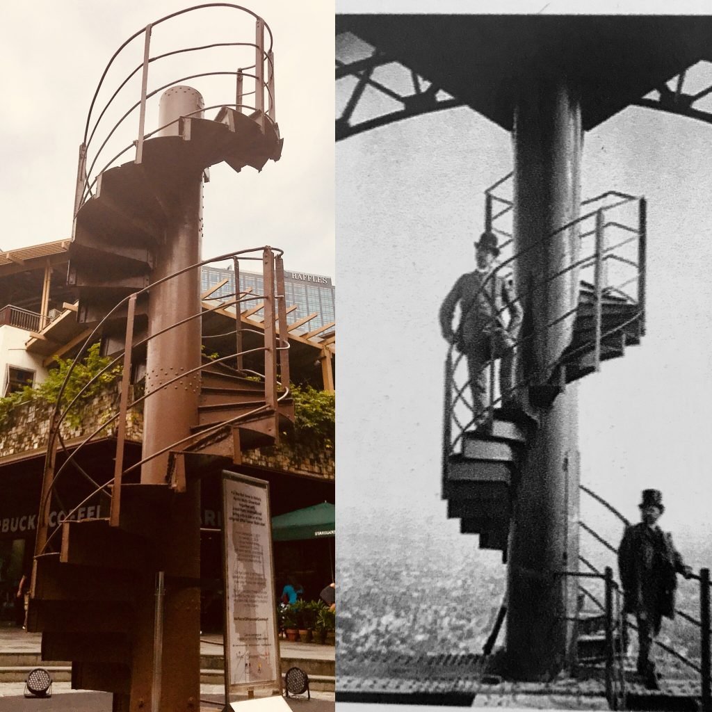
[[[624,592],[624,612],[637,613],[646,602],[655,600],[657,612],[675,617],[677,574],[684,571],[684,561],[672,543],[672,537],[657,525],[653,528],[653,545],[659,565],[652,577],[643,572],[643,537],[646,524],[626,527],[618,548],[618,569]]]

